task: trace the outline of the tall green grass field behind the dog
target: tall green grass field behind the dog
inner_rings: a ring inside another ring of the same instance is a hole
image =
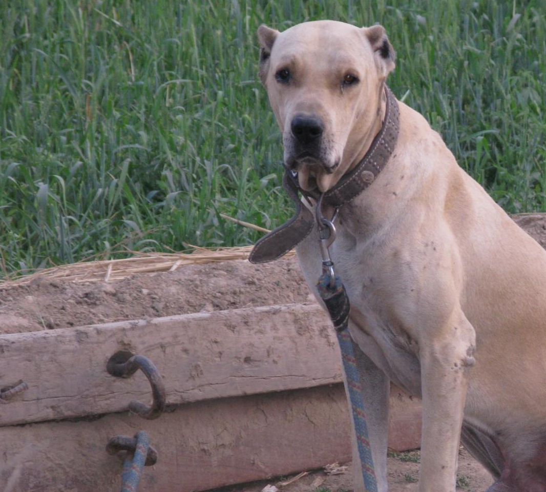
[[[4,0],[0,276],[286,220],[256,30],[317,19],[385,26],[396,96],[505,210],[546,211],[544,0]]]

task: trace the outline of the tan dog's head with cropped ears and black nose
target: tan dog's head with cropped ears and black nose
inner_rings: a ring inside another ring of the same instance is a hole
[[[325,192],[357,164],[381,125],[394,50],[382,26],[316,21],[258,29],[260,80],[281,127],[284,163]]]

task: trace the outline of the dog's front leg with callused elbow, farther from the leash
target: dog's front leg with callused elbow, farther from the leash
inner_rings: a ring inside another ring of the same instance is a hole
[[[420,341],[423,392],[420,492],[454,492],[474,328],[460,309]]]

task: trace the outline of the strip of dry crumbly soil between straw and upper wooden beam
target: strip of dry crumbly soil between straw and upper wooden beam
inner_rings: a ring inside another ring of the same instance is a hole
[[[186,265],[120,282],[36,278],[0,288],[0,333],[157,318],[314,299],[294,258],[265,265],[246,260]]]

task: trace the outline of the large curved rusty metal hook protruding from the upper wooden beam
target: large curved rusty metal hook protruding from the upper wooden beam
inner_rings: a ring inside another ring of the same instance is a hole
[[[152,361],[144,355],[133,355],[130,352],[120,351],[112,355],[106,364],[106,370],[115,377],[130,377],[139,369],[150,381],[153,402],[149,406],[140,401],[132,401],[129,404],[129,410],[142,418],[153,420],[165,410],[167,395],[161,375]]]

